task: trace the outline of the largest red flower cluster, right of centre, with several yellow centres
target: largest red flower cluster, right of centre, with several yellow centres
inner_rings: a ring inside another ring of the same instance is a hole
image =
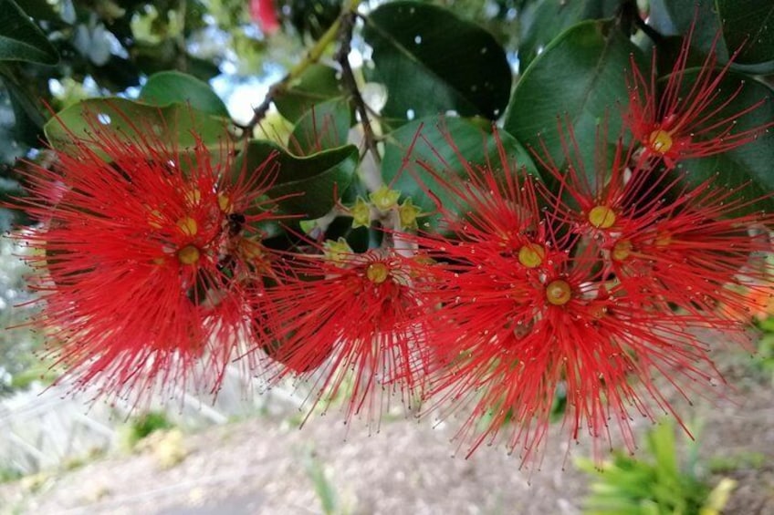
[[[602,155],[584,167],[572,132],[565,138],[569,171],[539,156],[559,193],[512,166],[501,145],[497,166],[462,160],[463,178],[420,163],[461,208],[439,206],[441,233],[452,236],[427,232],[415,242],[445,263],[426,283],[437,306],[426,315],[427,345],[443,357],[429,395],[453,409],[472,404],[459,432],[470,452],[506,431],[510,448],[533,457],[560,391],[571,438],[586,430],[609,440],[618,426],[633,446],[634,414],[674,413],[663,386],[701,395],[697,385],[717,377],[697,330],[740,333],[736,317],[702,295],[738,310],[743,297],[727,285],[771,285],[767,273],[743,275],[750,255],[770,248],[744,230],[764,217],[734,218],[741,203],[708,185],[676,191],[677,180],[651,163],[630,169],[636,158],[622,143],[612,165]],[[664,249],[645,253],[645,234]]]

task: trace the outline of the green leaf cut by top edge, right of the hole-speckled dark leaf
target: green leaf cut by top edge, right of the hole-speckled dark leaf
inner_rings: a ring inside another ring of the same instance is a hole
[[[521,15],[522,36],[518,42],[519,67],[525,69],[539,50],[566,28],[583,20],[615,14],[619,0],[540,0],[528,5]]]

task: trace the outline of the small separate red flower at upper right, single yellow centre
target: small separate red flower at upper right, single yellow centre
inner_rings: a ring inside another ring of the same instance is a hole
[[[701,67],[688,68],[693,29],[685,36],[672,72],[662,86],[657,82],[655,51],[649,77],[644,77],[632,58],[629,106],[625,117],[633,136],[642,145],[645,160],[663,160],[669,168],[677,161],[711,156],[736,149],[758,138],[774,122],[737,130],[737,121],[759,108],[767,98],[734,110],[734,100],[745,87],[733,84],[727,63],[717,68],[716,42]],[[738,53],[738,50],[737,50]],[[688,74],[693,77],[688,78]],[[728,85],[732,85],[728,90]]]

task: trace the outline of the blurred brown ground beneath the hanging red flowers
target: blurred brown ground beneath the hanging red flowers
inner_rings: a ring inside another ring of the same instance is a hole
[[[725,513],[770,515],[774,397],[769,378],[751,379],[744,359],[726,366],[735,385],[724,390],[727,398],[679,412],[703,421],[700,453],[726,469],[716,479],[738,481]],[[344,426],[335,412],[301,429],[299,419],[298,412],[274,414],[195,434],[156,434],[132,454],[115,451],[79,469],[0,485],[0,513],[292,515],[324,506],[352,514],[581,512],[586,478],[572,458],[565,462],[561,438],[553,438],[541,468],[528,471],[502,448],[453,457],[451,424],[387,418],[370,434]],[[589,455],[583,445],[572,452]]]

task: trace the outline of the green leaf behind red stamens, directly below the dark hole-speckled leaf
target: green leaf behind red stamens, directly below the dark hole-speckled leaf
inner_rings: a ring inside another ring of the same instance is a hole
[[[511,170],[524,167],[529,173],[537,174],[528,152],[516,139],[502,130],[499,131],[499,138]],[[466,162],[460,162],[460,156],[465,156]],[[497,171],[503,167],[497,139],[488,122],[482,127],[465,118],[442,118],[439,121],[438,117],[431,117],[414,120],[393,130],[385,139],[382,177],[393,190],[401,191],[403,198],[410,198],[424,213],[436,211],[435,200],[449,209],[455,206],[455,202],[438,186],[433,174],[419,166],[420,162],[439,174],[460,177],[465,176],[468,163],[474,166],[491,163]],[[429,196],[425,188],[433,191],[434,197]],[[423,219],[421,224],[424,223],[428,224],[425,229],[436,227],[438,217]]]

